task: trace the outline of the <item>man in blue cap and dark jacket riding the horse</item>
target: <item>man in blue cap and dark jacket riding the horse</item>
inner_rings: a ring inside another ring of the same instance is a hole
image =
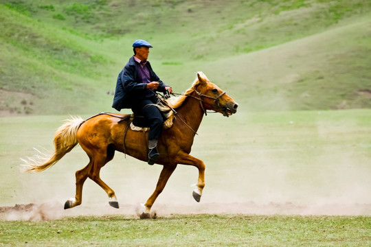
[[[120,111],[131,108],[137,116],[144,116],[150,130],[148,134],[148,164],[153,165],[159,159],[157,142],[159,140],[164,117],[156,106],[154,91],[172,93],[170,86],[162,82],[148,62],[150,47],[146,40],[135,40],[132,56],[117,77],[115,97],[112,107]]]

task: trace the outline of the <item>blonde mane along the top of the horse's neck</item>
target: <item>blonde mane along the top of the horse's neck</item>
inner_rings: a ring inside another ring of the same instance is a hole
[[[198,73],[198,75],[200,75],[201,78],[203,78],[204,80],[209,81],[209,79],[207,79],[206,75],[203,72],[199,71],[197,73]],[[168,99],[164,99],[164,101],[171,108],[177,109],[184,103],[184,101],[187,99],[188,95],[190,95],[191,93],[194,92],[194,89],[199,84],[200,84],[199,78],[196,77],[192,86],[185,93],[183,93],[182,95],[179,95],[178,97],[170,97]],[[165,128],[170,128],[172,126],[172,119],[174,117],[174,112],[168,106],[166,106],[165,104],[162,104],[161,102],[156,104],[156,106],[157,106],[157,108],[159,108],[161,111],[163,111],[165,113],[165,117],[166,117],[167,120],[164,122],[164,127]]]

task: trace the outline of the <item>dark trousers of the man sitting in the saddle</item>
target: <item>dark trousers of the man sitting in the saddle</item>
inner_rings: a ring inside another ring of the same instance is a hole
[[[164,124],[164,117],[162,116],[159,108],[150,105],[155,104],[156,102],[157,99],[155,97],[141,99],[135,101],[131,108],[135,115],[144,116],[146,122],[148,123],[150,128],[148,140],[158,140]]]

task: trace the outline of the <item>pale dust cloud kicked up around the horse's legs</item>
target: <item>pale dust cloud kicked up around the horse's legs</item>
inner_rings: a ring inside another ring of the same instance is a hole
[[[27,194],[23,194],[25,204],[16,204],[10,207],[0,207],[2,220],[58,220],[64,217],[78,215],[124,215],[135,217],[141,213],[141,203],[150,196],[155,189],[160,167],[132,167],[137,169],[136,174],[125,178],[117,178],[117,170],[113,167],[103,172],[105,181],[115,188],[120,209],[109,206],[108,198],[100,187],[87,180],[83,191],[83,202],[80,206],[64,210],[64,202],[74,193],[74,179],[64,180],[65,187],[54,185],[50,178],[45,180],[48,186],[40,189],[33,188],[32,193],[25,187]],[[251,168],[251,167],[249,167]],[[57,168],[58,169],[58,168]],[[131,169],[131,167],[129,167]],[[268,169],[268,167],[266,167]],[[179,172],[173,174],[163,193],[153,205],[152,213],[159,217],[177,214],[247,214],[247,215],[371,215],[370,191],[362,184],[364,179],[360,174],[353,174],[350,179],[348,172],[347,183],[341,180],[331,180],[328,183],[316,183],[320,186],[308,186],[303,181],[300,185],[286,180],[288,171],[282,169],[269,172],[262,168],[260,172],[255,169],[252,174],[243,176],[245,180],[233,171],[223,180],[210,171],[210,177],[203,191],[201,202],[192,198],[190,181],[196,178],[196,171],[190,167],[179,167]],[[271,170],[271,169],[269,169]],[[56,171],[57,173],[60,171]],[[126,171],[127,172],[127,171]],[[339,172],[339,170],[338,170]],[[290,173],[290,172],[289,172]],[[41,174],[37,174],[41,175]],[[341,174],[345,175],[345,174]],[[47,176],[51,176],[48,174]],[[45,175],[46,178],[47,177]],[[117,179],[113,179],[113,178]],[[111,180],[109,179],[111,178]],[[234,180],[233,180],[234,178]],[[41,183],[37,179],[33,183]],[[30,185],[31,181],[25,183]],[[43,195],[54,195],[45,198]],[[365,196],[366,195],[366,196]]]

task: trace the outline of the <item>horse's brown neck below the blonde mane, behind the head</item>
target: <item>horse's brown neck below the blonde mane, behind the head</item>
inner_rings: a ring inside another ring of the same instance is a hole
[[[192,132],[192,136],[194,136],[195,133],[193,130],[197,131],[199,129],[204,114],[199,100],[188,97],[186,102],[177,109],[177,112],[179,117],[186,121],[186,123],[192,128],[190,132]]]

